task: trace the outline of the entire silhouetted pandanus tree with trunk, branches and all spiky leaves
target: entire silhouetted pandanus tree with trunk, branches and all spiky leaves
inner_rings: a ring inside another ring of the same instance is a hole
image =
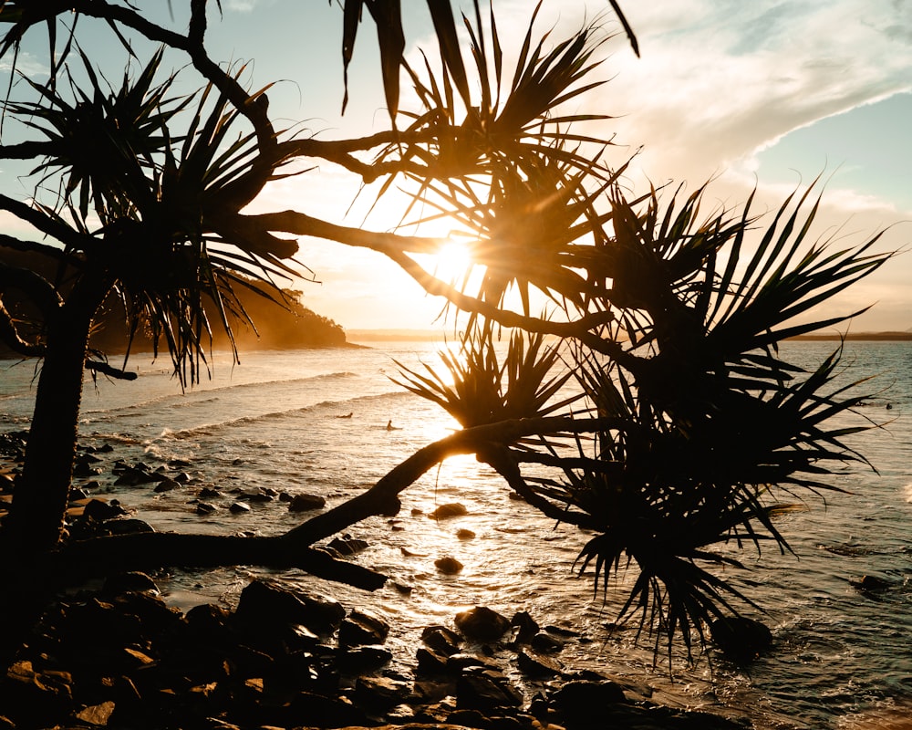
[[[843,321],[794,324],[890,254],[874,252],[877,236],[835,252],[810,244],[811,193],[786,200],[769,221],[751,213],[750,201],[741,212],[703,217],[703,188],[685,200],[668,190],[631,200],[619,183],[624,162],[609,165],[609,141],[584,133],[605,118],[565,112],[600,85],[596,50],[607,36],[597,24],[565,39],[538,36],[536,8],[507,69],[493,12],[473,5],[463,43],[450,5],[429,2],[437,48],[414,68],[403,56],[398,2],[342,5],[345,68],[368,14],[377,27],[390,124],[328,141],[276,130],[269,89],[245,89],[210,57],[203,0],[189,4],[185,32],[127,4],[0,5],[3,56],[15,61],[22,39],[44,31],[53,59],[45,83],[28,82],[29,99],[11,90],[5,104],[32,136],[0,146],[6,160],[33,161],[38,180],[30,200],[2,195],[0,209],[46,241],[4,235],[0,245],[53,264],[50,276],[0,265],[5,341],[41,359],[0,563],[19,580],[75,565],[81,575],[295,566],[376,588],[383,576],[311,546],[368,516],[394,514],[399,492],[421,474],[472,453],[545,515],[594,531],[579,565],[595,568],[596,583],[606,587],[609,574],[635,564],[624,613],[689,647],[706,620],[749,601],[713,571],[736,562],[720,544],[787,547],[773,522],[782,509],[776,489],[826,489],[832,464],[863,460],[842,443],[845,430],[827,425],[858,399],[832,387],[838,354],[805,373],[776,345]],[[162,52],[114,89],[78,50],[73,19],[83,16],[106,21],[130,56],[129,36],[183,54],[190,68],[181,73],[197,74],[201,89],[177,94],[175,75],[161,78]],[[401,78],[412,91],[402,110]],[[315,159],[379,182],[379,195],[408,191],[403,221],[449,221],[470,240],[479,276],[446,281],[422,266],[436,238],[338,224],[308,214],[306,202],[302,210],[246,210],[266,183]],[[282,536],[67,540],[83,370],[119,372],[88,353],[99,308],[116,298],[128,331],[150,327],[181,382],[192,384],[213,328],[230,333],[244,321],[238,287],[280,298],[276,280],[295,271],[290,236],[303,235],[378,251],[445,297],[448,311],[468,316],[461,353],[444,358],[442,370],[399,377],[451,412],[461,431]],[[31,319],[9,304],[14,292],[33,306]],[[545,313],[533,311],[539,295],[550,303]],[[205,302],[214,302],[217,321]],[[502,361],[495,344],[503,328],[513,334]],[[31,608],[18,620],[34,616]]]

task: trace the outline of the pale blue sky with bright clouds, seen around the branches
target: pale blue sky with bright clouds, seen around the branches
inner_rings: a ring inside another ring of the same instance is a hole
[[[163,3],[145,3],[157,7]],[[173,0],[180,13],[181,0]],[[212,4],[214,5],[214,4]],[[349,102],[342,100],[341,13],[326,2],[223,0],[207,36],[213,57],[250,61],[254,87],[270,89],[270,110],[289,127],[323,139],[368,134],[388,123],[372,26],[362,23]],[[407,55],[430,48],[430,22],[420,0],[405,0]],[[493,0],[504,53],[515,53],[531,0]],[[818,175],[824,198],[818,233],[840,247],[886,229],[879,249],[912,249],[912,4],[904,0],[654,0],[621,2],[640,47],[637,57],[606,0],[544,0],[536,27],[568,35],[598,20],[617,36],[603,47],[596,78],[579,111],[614,117],[588,133],[614,136],[617,162],[636,153],[628,181],[686,183],[711,179],[708,202],[734,206],[756,188],[755,210],[775,208]],[[180,16],[177,19],[180,22]],[[85,28],[85,26],[83,26]],[[91,26],[88,32],[93,33]],[[98,35],[105,32],[98,28]],[[26,47],[20,69],[40,76],[47,42]],[[93,52],[102,46],[91,46]],[[111,49],[113,68],[117,49]],[[112,78],[119,78],[119,70]],[[8,80],[0,68],[0,83]],[[6,140],[4,140],[6,141]],[[9,188],[10,170],[2,184]],[[271,185],[254,210],[295,207],[360,224],[357,183],[320,166]],[[388,229],[395,206],[382,205],[368,227]],[[13,225],[8,216],[0,224]],[[382,255],[301,239],[298,258],[319,284],[291,286],[306,307],[346,329],[432,328],[442,300],[429,297]],[[851,331],[912,328],[912,251],[815,314],[829,317],[870,306]]]

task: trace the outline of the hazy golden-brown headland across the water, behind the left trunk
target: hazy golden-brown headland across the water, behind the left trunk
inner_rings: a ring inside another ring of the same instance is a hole
[[[42,266],[44,260],[38,261],[35,255],[12,251],[0,246],[0,261],[10,266],[32,268],[39,271],[47,268]],[[44,276],[50,276],[47,270],[42,271]],[[256,330],[245,325],[243,321],[233,321],[232,328],[238,349],[251,351],[254,349],[305,349],[305,348],[339,348],[358,347],[349,344],[345,330],[332,319],[322,317],[316,312],[304,307],[294,291],[286,291],[288,301],[285,307],[275,301],[260,296],[247,287],[235,286],[235,293],[241,300],[244,309],[254,321]],[[15,287],[8,287],[5,292],[4,303],[6,308],[16,313],[16,316],[28,316],[29,312],[23,302],[16,297],[19,292]],[[218,315],[214,308],[208,311],[210,322],[215,328]],[[103,315],[98,318],[97,331],[93,333],[89,346],[99,349],[105,354],[119,354],[126,348],[127,329],[124,322],[123,308],[116,297],[110,297],[103,308]],[[160,343],[163,345],[164,343]],[[212,342],[213,349],[228,349],[228,338],[221,332],[216,332]],[[144,352],[152,349],[152,341],[145,334],[140,333],[132,345],[133,351]],[[16,353],[6,348],[0,342],[0,358],[16,357]]]

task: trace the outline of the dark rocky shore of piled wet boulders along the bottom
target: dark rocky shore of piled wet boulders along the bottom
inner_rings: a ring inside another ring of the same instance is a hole
[[[0,455],[15,464],[14,442]],[[10,487],[6,474],[4,499]],[[150,528],[75,496],[72,536]],[[233,610],[183,612],[148,575],[112,576],[60,595],[0,667],[0,730],[751,727],[657,702],[647,684],[567,670],[559,657],[572,637],[523,611],[479,606],[428,626],[408,662],[391,662],[389,629],[366,610],[266,580]]]

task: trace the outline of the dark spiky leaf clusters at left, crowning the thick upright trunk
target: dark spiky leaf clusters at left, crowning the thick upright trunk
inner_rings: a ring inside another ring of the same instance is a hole
[[[33,171],[41,176],[37,184],[54,175],[62,180],[58,208],[42,209],[95,244],[80,252],[84,266],[109,272],[130,340],[148,328],[156,352],[164,341],[181,381],[195,381],[216,325],[207,302],[233,344],[233,322],[254,327],[233,287],[281,300],[275,277],[294,273],[287,260],[295,242],[247,223],[238,212],[252,185],[262,187],[279,174],[259,169],[255,134],[237,132],[244,117],[211,86],[197,95],[186,134],[173,134],[170,127],[193,98],[169,96],[173,74],[156,84],[161,50],[135,78],[125,73],[111,92],[102,89],[88,57],[80,56],[88,86],[71,83],[75,101],[58,87],[30,82],[38,99],[16,105],[47,138],[47,158]],[[94,235],[90,213],[102,224]]]

